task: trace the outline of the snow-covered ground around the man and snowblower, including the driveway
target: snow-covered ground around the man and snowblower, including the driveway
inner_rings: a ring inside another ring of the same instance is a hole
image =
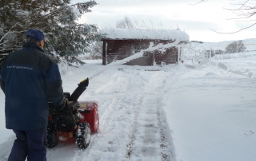
[[[100,128],[90,146],[47,149],[48,161],[255,161],[256,56],[199,65],[60,65],[63,88],[73,92],[91,77],[79,100],[98,100]],[[0,160],[14,134],[5,129],[0,92]]]

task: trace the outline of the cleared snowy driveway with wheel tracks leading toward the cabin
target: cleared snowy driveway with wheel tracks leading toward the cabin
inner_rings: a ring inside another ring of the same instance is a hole
[[[123,70],[98,92],[100,129],[73,160],[174,160],[162,113],[166,81],[174,73]]]

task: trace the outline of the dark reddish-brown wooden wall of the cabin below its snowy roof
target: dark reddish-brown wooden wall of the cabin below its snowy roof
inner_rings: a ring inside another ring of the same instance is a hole
[[[102,65],[108,65],[112,61],[122,60],[126,57],[130,57],[134,53],[138,53],[142,49],[147,49],[150,46],[150,42],[154,41],[154,45],[159,43],[167,44],[172,41],[159,41],[159,40],[110,40],[103,39],[103,49],[102,49]],[[168,64],[174,64],[178,62],[178,48],[173,47],[170,49],[165,49],[164,52],[161,52],[162,49],[158,49],[152,52],[146,52],[143,54],[143,57],[134,59],[127,62],[125,65],[160,65],[161,61]]]

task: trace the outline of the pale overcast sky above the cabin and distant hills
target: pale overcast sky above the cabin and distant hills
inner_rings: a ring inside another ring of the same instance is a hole
[[[96,24],[99,28],[114,27],[128,17],[134,24],[151,29],[181,29],[190,35],[190,41],[234,41],[256,38],[256,26],[230,34],[252,22],[228,20],[237,15],[227,9],[235,9],[237,0],[208,0],[192,6],[200,0],[95,0],[97,6],[84,14],[81,23]],[[71,0],[71,3],[87,0]],[[230,3],[233,3],[230,4]],[[215,33],[214,29],[218,32]],[[227,33],[228,34],[224,34]]]

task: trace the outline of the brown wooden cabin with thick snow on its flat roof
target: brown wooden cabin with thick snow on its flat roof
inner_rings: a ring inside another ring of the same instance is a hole
[[[122,60],[134,53],[143,52],[143,56],[128,61],[125,65],[161,65],[178,64],[181,49],[179,44],[189,41],[189,35],[180,29],[102,29],[102,65]],[[158,46],[150,49],[150,43]],[[167,44],[171,47],[164,47]]]

